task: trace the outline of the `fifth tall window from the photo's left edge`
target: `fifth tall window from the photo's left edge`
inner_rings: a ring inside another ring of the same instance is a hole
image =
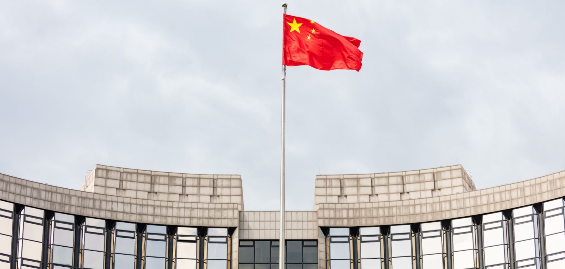
[[[134,269],[136,264],[136,224],[116,222],[112,229],[112,268]]]

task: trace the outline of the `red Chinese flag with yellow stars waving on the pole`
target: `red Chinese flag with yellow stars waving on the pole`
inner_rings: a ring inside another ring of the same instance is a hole
[[[282,64],[319,70],[361,69],[359,41],[342,36],[313,20],[282,15]]]

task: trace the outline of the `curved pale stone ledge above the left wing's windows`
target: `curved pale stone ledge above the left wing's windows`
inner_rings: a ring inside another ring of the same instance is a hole
[[[0,173],[0,199],[66,214],[147,224],[237,227],[238,203],[172,202],[84,192]]]

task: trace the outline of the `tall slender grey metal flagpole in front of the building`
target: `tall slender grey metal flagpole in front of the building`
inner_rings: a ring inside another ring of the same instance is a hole
[[[282,3],[282,11],[286,14],[286,2]],[[284,31],[284,27],[283,30]],[[284,33],[282,33],[284,38]],[[284,41],[283,41],[284,42]],[[285,244],[284,244],[284,174],[285,174],[285,131],[286,131],[286,66],[282,66],[282,104],[281,104],[281,193],[280,193],[280,233],[279,233],[279,269],[285,269]]]

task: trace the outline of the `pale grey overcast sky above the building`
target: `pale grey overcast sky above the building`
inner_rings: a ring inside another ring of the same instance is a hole
[[[0,0],[0,172],[240,173],[279,208],[281,1]],[[565,2],[289,1],[363,68],[287,75],[286,209],[318,173],[462,164],[477,188],[565,170]]]

